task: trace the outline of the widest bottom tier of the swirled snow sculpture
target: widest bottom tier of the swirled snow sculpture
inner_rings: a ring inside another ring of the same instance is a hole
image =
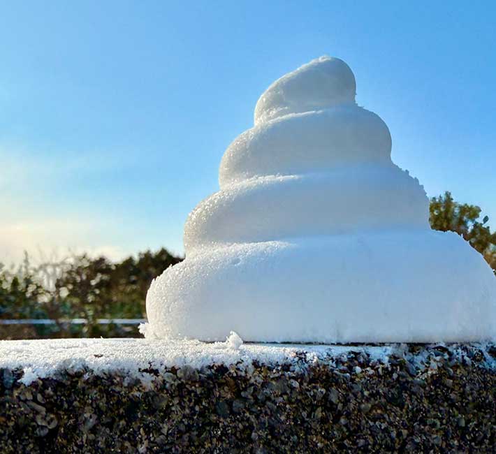
[[[191,254],[154,281],[148,298],[170,303],[167,323],[151,329],[207,340],[235,330],[259,342],[468,342],[494,332],[494,280],[455,233],[234,244]],[[149,320],[162,311],[149,305]]]

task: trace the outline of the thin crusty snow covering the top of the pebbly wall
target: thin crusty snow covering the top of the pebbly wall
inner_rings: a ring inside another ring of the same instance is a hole
[[[429,346],[435,347],[435,346]],[[488,354],[490,344],[473,346],[443,346],[450,356],[469,362],[466,353],[478,349],[483,353],[481,366],[496,368],[496,361]],[[43,339],[0,341],[1,369],[22,369],[20,382],[30,385],[37,379],[57,378],[66,372],[87,372],[94,374],[122,373],[129,380],[140,379],[145,385],[152,383],[156,376],[170,367],[192,367],[202,369],[211,365],[235,364],[241,369],[249,368],[253,362],[277,366],[282,364],[298,366],[304,363],[323,362],[333,367],[337,358],[347,358],[353,353],[363,353],[371,363],[388,365],[392,356],[405,358],[418,370],[432,369],[432,349],[409,351],[404,344],[383,346],[337,346],[337,345],[281,345],[243,344],[235,333],[225,342],[207,344],[195,340],[150,340],[150,339]],[[303,365],[304,366],[304,365]],[[356,370],[356,373],[360,371]]]

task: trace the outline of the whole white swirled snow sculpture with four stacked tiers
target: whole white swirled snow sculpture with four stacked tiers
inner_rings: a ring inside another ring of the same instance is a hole
[[[186,260],[154,280],[147,337],[455,342],[496,337],[496,279],[455,233],[430,229],[418,180],[321,57],[263,93],[191,212]]]

